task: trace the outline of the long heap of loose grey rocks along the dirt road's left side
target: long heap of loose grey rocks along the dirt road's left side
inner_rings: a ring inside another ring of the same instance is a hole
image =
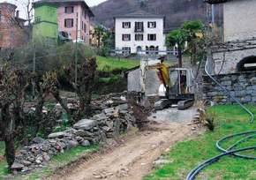
[[[127,131],[136,120],[126,102],[119,98],[117,106],[113,102],[102,103],[101,111],[100,108],[95,109],[99,114],[81,119],[65,131],[51,133],[48,139],[35,138],[33,145],[25,146],[16,156],[11,169],[27,172],[42,168],[48,165],[51,157],[74,146],[90,146]]]

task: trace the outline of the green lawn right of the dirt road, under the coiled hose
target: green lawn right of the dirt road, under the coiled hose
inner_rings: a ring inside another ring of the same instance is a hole
[[[256,114],[255,106],[246,106]],[[185,139],[172,146],[162,159],[171,160],[164,165],[154,167],[154,171],[143,180],[185,179],[188,173],[200,163],[207,161],[215,155],[221,154],[215,143],[218,139],[242,131],[255,131],[255,123],[250,124],[251,116],[238,105],[215,106],[207,109],[207,113],[214,114],[215,131],[206,131],[195,139]],[[222,147],[228,148],[242,137],[233,137],[224,140]],[[235,148],[255,146],[256,138],[248,139]],[[256,156],[256,150],[243,152]],[[256,179],[256,160],[245,160],[231,155],[221,157],[200,171],[196,179]]]

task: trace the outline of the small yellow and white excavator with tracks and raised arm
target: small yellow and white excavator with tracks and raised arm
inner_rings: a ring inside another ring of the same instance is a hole
[[[184,68],[171,68],[162,63],[148,64],[147,60],[140,61],[139,83],[141,87],[140,101],[146,98],[146,71],[157,69],[156,72],[161,85],[158,89],[160,101],[154,102],[154,109],[164,109],[177,104],[177,109],[187,109],[192,106],[194,94],[192,94],[192,71]]]

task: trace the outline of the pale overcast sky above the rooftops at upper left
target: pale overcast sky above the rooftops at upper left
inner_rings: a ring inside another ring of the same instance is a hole
[[[28,0],[0,0],[0,3],[8,2],[11,4],[17,5],[18,7],[16,10],[19,10],[19,18],[26,19],[25,4],[27,4],[27,1]],[[32,1],[32,0],[30,0],[30,1]],[[37,0],[35,0],[35,1],[37,1]],[[89,7],[92,7],[94,5],[101,4],[107,0],[85,0],[85,1]]]

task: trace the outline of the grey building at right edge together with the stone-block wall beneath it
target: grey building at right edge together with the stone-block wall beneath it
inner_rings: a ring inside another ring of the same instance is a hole
[[[256,2],[254,0],[205,0],[223,3],[224,38],[207,48],[208,72],[242,103],[256,103]],[[204,99],[233,103],[204,77]]]

